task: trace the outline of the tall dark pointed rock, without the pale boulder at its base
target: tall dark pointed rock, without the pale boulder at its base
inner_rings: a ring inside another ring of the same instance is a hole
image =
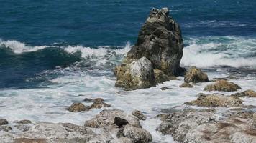
[[[180,68],[182,55],[180,26],[169,16],[168,8],[152,9],[125,63],[145,56],[152,62],[153,69],[160,69],[166,75],[179,75],[184,71]]]

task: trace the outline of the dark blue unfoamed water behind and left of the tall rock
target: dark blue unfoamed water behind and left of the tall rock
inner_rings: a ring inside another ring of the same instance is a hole
[[[170,14],[181,26],[186,46],[191,39],[202,37],[211,38],[199,43],[207,40],[209,43],[211,40],[222,42],[222,36],[236,37],[227,42],[242,37],[243,41],[252,41],[248,50],[252,50],[250,57],[256,57],[253,51],[255,0],[0,0],[0,4],[1,41],[19,41],[32,48],[49,46],[39,51],[15,53],[1,42],[0,88],[34,87],[44,80],[35,83],[27,79],[37,77],[42,71],[56,69],[56,66],[66,67],[82,60],[81,54],[67,53],[52,44],[91,48],[116,48],[127,41],[134,44],[152,7],[171,10]],[[19,48],[19,45],[14,47]]]

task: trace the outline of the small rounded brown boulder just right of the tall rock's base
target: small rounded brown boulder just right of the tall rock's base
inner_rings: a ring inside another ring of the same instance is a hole
[[[184,76],[184,82],[209,82],[208,76],[206,73],[201,71],[201,69],[197,69],[195,66],[192,66]]]

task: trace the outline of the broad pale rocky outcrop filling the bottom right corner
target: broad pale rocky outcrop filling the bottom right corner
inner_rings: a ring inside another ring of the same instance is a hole
[[[255,142],[254,117],[247,116],[248,109],[231,110],[219,115],[198,109],[171,112],[165,114],[157,130],[181,143]]]

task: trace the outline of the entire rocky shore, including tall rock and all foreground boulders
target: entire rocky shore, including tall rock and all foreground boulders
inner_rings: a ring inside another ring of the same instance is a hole
[[[160,119],[155,130],[171,135],[175,142],[256,142],[256,107],[245,105],[243,101],[243,98],[255,98],[256,92],[242,89],[233,77],[232,81],[231,77],[209,79],[208,73],[195,66],[186,71],[180,67],[182,56],[180,26],[167,8],[152,9],[139,32],[137,43],[122,64],[114,69],[115,86],[122,92],[130,92],[178,80],[177,77],[182,76],[183,82],[175,89],[190,90],[203,84],[205,87],[201,92],[204,93],[195,94],[195,100],[160,109],[156,117],[147,117],[137,109],[132,112],[116,109],[114,104],[102,98],[86,98],[63,108],[72,114],[101,110],[83,125],[0,119],[1,142],[149,143],[154,142],[153,134],[145,128],[147,124],[142,126],[142,122],[149,118]],[[170,89],[175,90],[161,87],[159,91]]]

